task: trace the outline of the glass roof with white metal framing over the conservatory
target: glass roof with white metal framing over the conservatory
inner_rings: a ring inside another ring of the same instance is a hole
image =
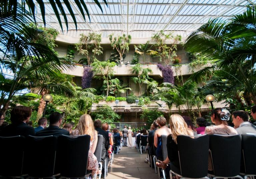
[[[99,0],[103,9],[102,13],[93,0],[84,0],[91,17],[91,21],[86,17],[86,22],[84,22],[74,0],[69,1],[77,19],[78,31],[102,31],[106,34],[110,33],[108,31],[128,32],[129,34],[159,30],[191,32],[209,19],[222,17],[228,20],[232,15],[244,12],[249,2],[256,2],[256,0],[108,0],[107,7],[102,0]],[[44,2],[47,26],[60,31],[49,1]],[[68,12],[65,4],[62,5]],[[36,12],[37,22],[42,24],[38,4]],[[76,29],[71,16],[67,14],[67,18],[70,33]],[[66,29],[64,19],[63,17],[61,19],[64,30]]]

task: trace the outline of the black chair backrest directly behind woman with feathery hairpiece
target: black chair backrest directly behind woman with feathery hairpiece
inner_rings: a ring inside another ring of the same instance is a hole
[[[210,152],[216,176],[230,177],[240,173],[241,135],[210,135]]]

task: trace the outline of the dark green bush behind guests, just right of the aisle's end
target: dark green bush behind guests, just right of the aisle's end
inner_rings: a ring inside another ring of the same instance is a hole
[[[161,116],[164,116],[163,112],[157,110],[143,110],[142,114],[140,115],[140,119],[142,119],[143,121],[145,119],[147,123],[147,128],[150,129],[153,121]]]

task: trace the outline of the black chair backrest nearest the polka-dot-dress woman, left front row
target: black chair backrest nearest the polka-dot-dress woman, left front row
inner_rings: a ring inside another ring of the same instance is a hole
[[[78,178],[86,175],[90,135],[58,137],[58,166],[61,176]]]

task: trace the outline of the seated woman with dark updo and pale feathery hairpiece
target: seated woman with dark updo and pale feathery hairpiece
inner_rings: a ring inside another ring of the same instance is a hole
[[[227,121],[229,120],[230,113],[227,109],[222,109],[220,107],[213,109],[211,113],[211,121],[215,125],[207,126],[205,128],[205,134],[221,134],[221,135],[233,135],[237,134],[237,131],[233,128],[228,126]],[[221,147],[221,146],[220,146]],[[212,171],[212,160],[209,154],[208,159],[208,170]]]

